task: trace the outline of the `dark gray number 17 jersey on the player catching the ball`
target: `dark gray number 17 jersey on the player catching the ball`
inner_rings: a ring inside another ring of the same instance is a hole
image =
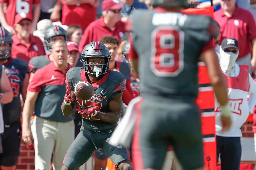
[[[75,85],[79,81],[88,82],[86,72],[82,67],[73,67],[67,71],[67,81],[70,82],[71,88],[74,90]],[[90,81],[89,81],[90,82]],[[89,100],[80,100],[77,98],[81,109],[87,109],[91,106],[98,106],[98,111],[110,112],[109,101],[115,95],[125,91],[125,77],[117,71],[109,71],[96,83],[92,83],[94,94]],[[83,127],[92,131],[101,131],[110,129],[116,124],[110,124],[101,121],[93,116],[83,115]]]

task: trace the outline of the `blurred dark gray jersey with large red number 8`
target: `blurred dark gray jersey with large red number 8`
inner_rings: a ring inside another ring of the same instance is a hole
[[[213,19],[162,8],[135,10],[131,19],[129,56],[139,56],[141,96],[196,98],[199,56],[214,48]]]

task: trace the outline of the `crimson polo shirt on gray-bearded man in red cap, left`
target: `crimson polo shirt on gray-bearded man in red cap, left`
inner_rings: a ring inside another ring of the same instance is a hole
[[[27,46],[17,37],[17,33],[11,38],[13,39],[13,45],[11,47],[11,56],[13,58],[21,58],[28,63],[35,56],[45,55],[45,49],[39,37],[30,34],[29,44]]]

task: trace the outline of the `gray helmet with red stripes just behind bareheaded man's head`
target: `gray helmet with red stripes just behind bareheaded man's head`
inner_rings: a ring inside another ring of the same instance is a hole
[[[50,27],[48,27],[45,31],[45,44],[47,46],[47,49],[49,51],[52,50],[52,46],[51,46],[51,37],[54,36],[58,36],[58,35],[62,35],[65,37],[65,41],[68,41],[68,36],[67,36],[67,32],[65,31],[65,29],[61,28],[58,25],[51,25]]]

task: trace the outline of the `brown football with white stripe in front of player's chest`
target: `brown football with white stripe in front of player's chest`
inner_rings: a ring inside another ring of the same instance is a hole
[[[78,82],[75,85],[75,96],[81,100],[89,100],[93,96],[93,86],[88,82]]]

